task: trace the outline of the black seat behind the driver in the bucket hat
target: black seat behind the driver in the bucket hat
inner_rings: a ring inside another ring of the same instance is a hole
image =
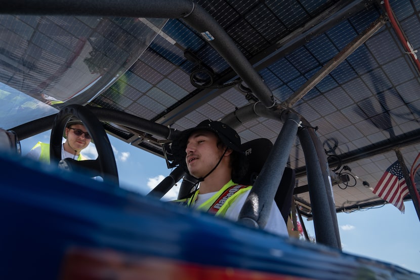
[[[244,185],[253,185],[257,179],[258,174],[266,162],[268,155],[273,147],[273,143],[266,138],[259,138],[248,141],[241,145],[242,150],[245,151],[248,159],[248,172],[246,175],[238,180],[238,183]],[[277,188],[274,201],[283,216],[284,222],[287,224],[287,219],[290,215],[291,202],[293,196],[293,189],[295,188],[296,176],[295,170],[285,167],[283,177]]]

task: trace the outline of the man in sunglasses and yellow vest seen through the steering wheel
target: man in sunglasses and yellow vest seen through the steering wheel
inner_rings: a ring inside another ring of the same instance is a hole
[[[61,145],[61,159],[73,158],[77,161],[85,161],[87,158],[80,151],[86,148],[92,140],[82,122],[72,119],[64,130],[66,142]],[[38,142],[26,155],[36,161],[50,163],[50,144]]]

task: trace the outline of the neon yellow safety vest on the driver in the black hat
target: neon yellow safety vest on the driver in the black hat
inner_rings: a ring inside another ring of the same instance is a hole
[[[197,209],[223,217],[225,216],[226,211],[229,209],[232,203],[236,200],[236,198],[238,198],[241,193],[244,193],[250,188],[252,188],[252,186],[238,185],[230,180],[212,197],[198,206]],[[196,190],[191,197],[178,199],[173,202],[192,207],[197,200],[198,192],[199,190]]]

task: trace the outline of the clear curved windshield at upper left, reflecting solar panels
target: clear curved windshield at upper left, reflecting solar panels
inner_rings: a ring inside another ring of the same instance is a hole
[[[0,127],[86,104],[142,55],[166,19],[0,16]]]

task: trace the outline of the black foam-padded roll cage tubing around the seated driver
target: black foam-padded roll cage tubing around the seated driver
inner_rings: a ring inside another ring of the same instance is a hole
[[[254,227],[263,226],[261,223],[266,220],[264,216],[268,214],[264,210],[264,205],[271,203],[274,197],[284,167],[286,166],[291,146],[293,141],[295,141],[295,137],[298,136],[305,154],[308,187],[317,242],[341,250],[328,162],[321,142],[315,134],[315,129],[310,126],[302,115],[299,115],[284,105],[276,104],[271,90],[264,83],[257,71],[239,51],[225,30],[203,8],[189,0],[119,2],[110,0],[75,0],[71,2],[64,0],[45,0],[40,2],[22,0],[15,2],[4,1],[2,3],[2,13],[177,18],[184,20],[197,32],[206,34],[210,38],[216,38],[208,41],[208,44],[213,46],[227,61],[259,100],[259,102],[251,104],[251,106],[241,108],[241,110],[253,112],[253,114],[249,114],[249,119],[241,119],[239,121],[237,117],[234,117],[236,112],[232,112],[225,116],[222,122],[227,123],[234,129],[241,123],[245,123],[259,116],[273,118],[283,123],[272,153],[251,190],[252,195],[258,195],[261,199],[258,206],[259,212],[255,213],[251,211],[250,206],[252,203],[250,200],[247,200],[241,211],[239,220]],[[178,131],[174,129],[124,112],[94,107],[91,107],[91,110],[102,122],[118,123],[167,140],[174,140],[178,134]],[[46,121],[51,121],[52,124],[53,116],[43,118],[44,123],[41,126],[47,126],[48,122]],[[39,120],[35,122],[39,122]],[[25,133],[23,132],[24,128],[26,129],[27,126],[22,125],[13,129],[21,139],[35,132],[33,130],[30,133]],[[274,168],[269,169],[268,167]],[[181,172],[175,169],[170,177],[177,179],[180,174]],[[172,179],[165,181],[165,184],[167,184],[166,187],[175,184],[175,179]]]

